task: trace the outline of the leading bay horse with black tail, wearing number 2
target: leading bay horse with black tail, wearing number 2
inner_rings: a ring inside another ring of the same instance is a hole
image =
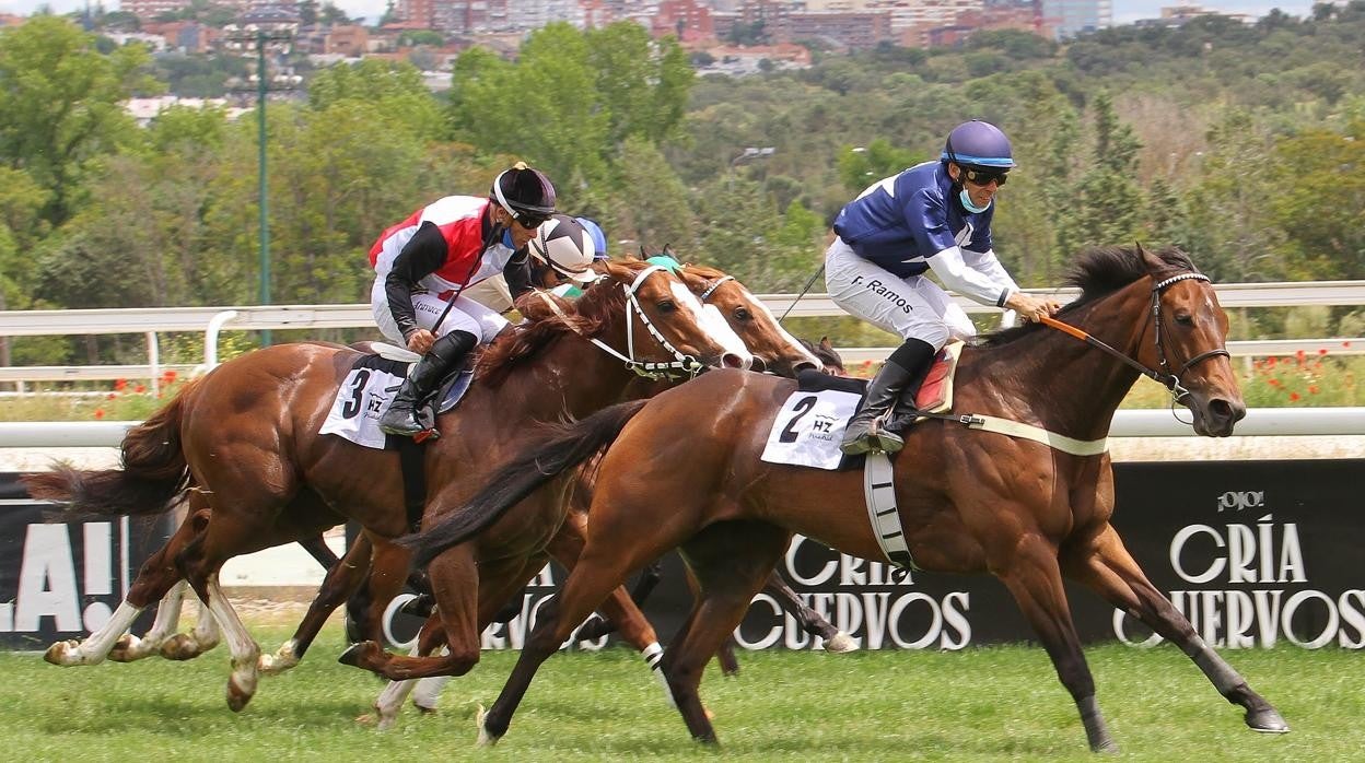
[[[1059,314],[1087,341],[1024,326],[964,349],[956,409],[1024,422],[1052,433],[1043,440],[1058,444],[1058,434],[1099,441],[1140,367],[1177,393],[1198,434],[1231,434],[1245,407],[1223,347],[1227,317],[1207,281],[1175,250],[1088,253],[1072,278],[1081,296]],[[1112,355],[1093,348],[1100,344]],[[542,438],[494,475],[472,504],[407,541],[418,564],[431,560],[429,572],[440,584],[450,550],[480,532],[511,531],[515,515],[502,513],[509,505],[610,444],[587,546],[557,606],[542,609],[508,684],[480,719],[480,740],[506,733],[535,670],[605,592],[667,549],[681,546],[702,581],[702,598],[669,646],[663,670],[688,730],[708,743],[715,732],[698,697],[702,667],[738,624],[790,534],[885,558],[857,470],[759,459],[793,388],[785,379],[717,373],[647,403],[607,408]],[[1092,749],[1111,751],[1115,744],[1095,699],[1063,575],[1178,644],[1228,702],[1246,710],[1250,728],[1287,730],[1279,712],[1198,637],[1125,550],[1110,524],[1114,480],[1107,453],[1072,455],[961,423],[921,422],[894,456],[908,549],[925,571],[990,572],[1005,583],[1072,693]],[[541,468],[528,470],[528,463]]]

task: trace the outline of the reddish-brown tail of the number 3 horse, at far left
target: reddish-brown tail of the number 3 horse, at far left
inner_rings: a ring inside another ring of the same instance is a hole
[[[123,437],[123,467],[75,470],[59,463],[51,472],[27,474],[20,482],[38,500],[64,504],[64,515],[158,515],[173,506],[190,486],[180,446],[180,422],[192,381],[169,404]]]

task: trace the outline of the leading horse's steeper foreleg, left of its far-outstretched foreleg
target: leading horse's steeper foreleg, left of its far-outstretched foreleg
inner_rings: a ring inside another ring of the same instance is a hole
[[[994,569],[999,569],[995,575],[1010,590],[1024,616],[1033,625],[1043,648],[1052,659],[1058,678],[1072,693],[1081,712],[1091,751],[1118,752],[1118,745],[1110,736],[1104,715],[1095,699],[1095,677],[1085,663],[1081,640],[1076,635],[1072,610],[1066,603],[1057,550],[1039,538],[1022,539],[1011,549],[1011,558],[1003,565],[992,565]]]

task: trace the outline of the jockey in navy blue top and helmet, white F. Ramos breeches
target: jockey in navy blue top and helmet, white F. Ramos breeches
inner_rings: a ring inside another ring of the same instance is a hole
[[[845,453],[900,450],[905,441],[885,429],[883,416],[902,393],[919,392],[950,339],[976,333],[927,270],[947,288],[1025,321],[1057,311],[1055,300],[1021,292],[991,248],[994,197],[1011,168],[1009,138],[987,121],[965,121],[949,134],[939,161],[874,183],[835,217],[837,237],[824,254],[830,298],[904,340],[849,420]]]

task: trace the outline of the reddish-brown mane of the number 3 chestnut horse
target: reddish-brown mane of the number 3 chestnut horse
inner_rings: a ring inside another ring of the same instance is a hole
[[[629,269],[632,274],[650,268],[648,263],[633,259],[617,261],[614,265]],[[498,337],[489,345],[475,367],[476,382],[502,384],[520,362],[539,354],[560,337],[568,333],[597,336],[606,329],[613,315],[625,308],[625,292],[610,276],[594,281],[576,302],[560,302],[561,307],[568,306],[562,315],[546,314],[538,306],[531,307],[526,302],[531,299],[541,298],[535,293],[517,298],[517,311],[539,318],[515,326],[512,333]],[[526,311],[521,311],[523,304],[528,304]]]

